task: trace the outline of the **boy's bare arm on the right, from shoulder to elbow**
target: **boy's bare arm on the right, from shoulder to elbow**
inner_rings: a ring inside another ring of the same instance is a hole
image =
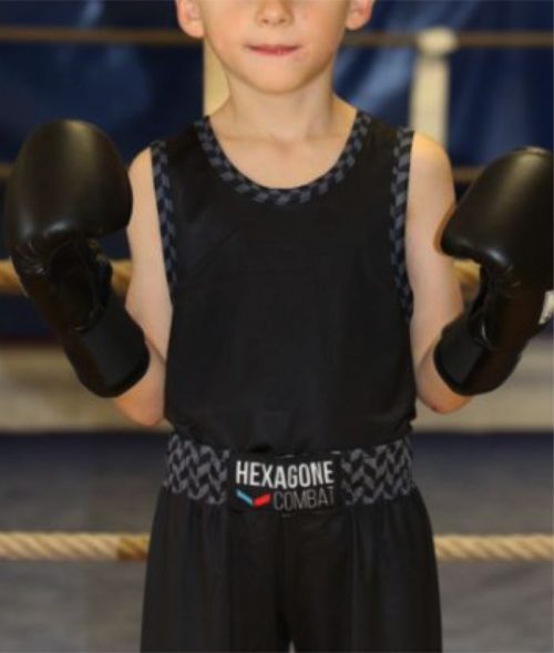
[[[414,132],[406,218],[406,265],[413,292],[410,339],[418,396],[435,412],[468,404],[442,380],[433,363],[442,328],[463,310],[453,258],[440,251],[442,227],[455,206],[452,165],[443,146]]]

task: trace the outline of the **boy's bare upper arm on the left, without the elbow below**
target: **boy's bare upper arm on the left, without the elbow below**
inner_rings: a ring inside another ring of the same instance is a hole
[[[172,304],[165,275],[150,147],[145,147],[133,159],[129,166],[129,178],[133,190],[133,212],[126,235],[132,272],[125,307],[165,359]]]

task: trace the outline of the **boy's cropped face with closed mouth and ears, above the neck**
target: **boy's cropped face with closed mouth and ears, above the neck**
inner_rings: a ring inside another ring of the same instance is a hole
[[[328,68],[345,29],[368,22],[373,0],[176,0],[181,28],[206,38],[223,68],[266,92],[290,91]],[[264,54],[253,45],[295,45]]]

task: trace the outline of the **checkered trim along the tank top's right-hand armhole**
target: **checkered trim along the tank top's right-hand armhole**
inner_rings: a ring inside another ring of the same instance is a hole
[[[409,323],[413,314],[413,293],[406,266],[404,239],[413,130],[406,126],[394,129],[389,227],[390,253],[398,297],[406,322]]]

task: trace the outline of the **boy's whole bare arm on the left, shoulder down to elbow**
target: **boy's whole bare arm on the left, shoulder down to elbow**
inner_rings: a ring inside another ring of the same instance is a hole
[[[165,359],[173,309],[165,276],[148,147],[132,161],[129,177],[133,188],[133,213],[126,234],[132,272],[125,308],[142,327],[151,359],[142,379],[113,401],[134,421],[155,426],[164,418]]]

